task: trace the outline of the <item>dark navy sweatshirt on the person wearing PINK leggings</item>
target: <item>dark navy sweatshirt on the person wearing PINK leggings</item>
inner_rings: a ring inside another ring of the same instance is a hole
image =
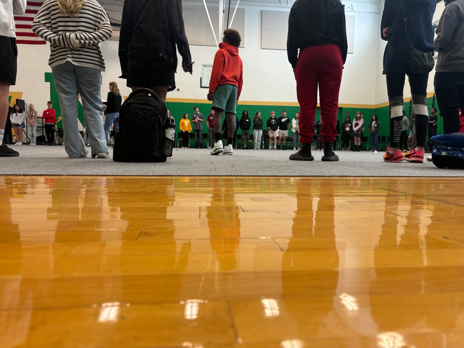
[[[432,52],[434,30],[432,17],[436,0],[402,0],[412,45],[422,52]],[[383,73],[395,74],[409,71],[409,44],[403,21],[400,0],[386,0],[380,25],[380,37],[387,40],[383,55]],[[383,29],[388,27],[388,37]]]

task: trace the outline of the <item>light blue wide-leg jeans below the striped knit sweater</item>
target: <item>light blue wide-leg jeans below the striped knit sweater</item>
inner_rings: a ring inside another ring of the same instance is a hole
[[[71,62],[52,69],[63,121],[64,149],[69,157],[85,157],[89,152],[77,127],[77,95],[80,93],[84,119],[89,134],[92,157],[108,154],[103,132],[101,72]]]

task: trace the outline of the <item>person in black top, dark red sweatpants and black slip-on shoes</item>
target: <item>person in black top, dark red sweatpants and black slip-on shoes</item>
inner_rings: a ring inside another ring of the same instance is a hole
[[[325,143],[322,161],[338,161],[332,145],[337,137],[338,96],[347,53],[345,6],[340,0],[296,0],[289,15],[287,54],[295,72],[303,147],[290,160],[314,160],[311,144],[319,89],[324,122],[321,140]]]

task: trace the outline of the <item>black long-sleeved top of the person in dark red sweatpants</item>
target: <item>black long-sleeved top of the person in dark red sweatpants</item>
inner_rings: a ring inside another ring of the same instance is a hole
[[[322,45],[338,45],[345,64],[348,53],[345,5],[342,5],[340,0],[323,0],[326,32],[318,39],[311,39],[307,34],[310,15],[309,9],[305,6],[306,1],[296,0],[290,10],[287,55],[292,68],[296,67],[298,48],[301,52],[305,48]]]

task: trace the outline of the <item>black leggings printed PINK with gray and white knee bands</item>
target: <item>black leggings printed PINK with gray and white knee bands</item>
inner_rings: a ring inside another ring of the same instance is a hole
[[[403,110],[404,99],[403,90],[405,86],[406,75],[409,77],[409,86],[411,87],[412,104],[416,113],[416,136],[417,146],[424,146],[429,124],[427,110],[427,80],[429,74],[413,74],[412,72],[400,72],[396,74],[387,74],[388,101],[390,103],[390,113],[395,109]],[[403,117],[390,115],[390,146],[398,148],[401,140],[401,129],[403,128]]]

